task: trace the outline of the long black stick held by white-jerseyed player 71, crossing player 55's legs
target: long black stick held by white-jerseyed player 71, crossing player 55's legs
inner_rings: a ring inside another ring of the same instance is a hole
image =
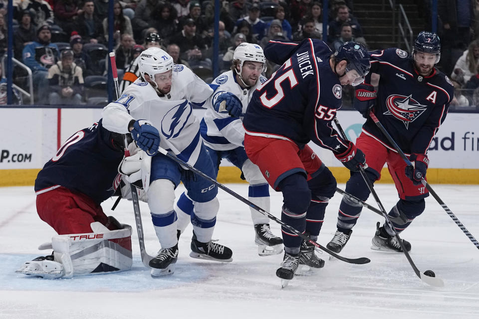
[[[330,251],[329,249],[327,249],[326,247],[323,247],[321,246],[320,244],[318,244],[317,242],[315,242],[314,240],[310,239],[308,236],[304,235],[303,233],[300,233],[298,230],[296,230],[295,228],[289,226],[288,224],[284,223],[283,221],[281,221],[280,219],[277,219],[274,215],[272,215],[271,213],[265,211],[264,209],[262,209],[261,207],[257,206],[256,204],[250,202],[249,200],[247,200],[246,198],[240,196],[238,193],[234,192],[233,190],[231,190],[230,188],[226,187],[225,185],[223,185],[222,183],[218,182],[216,179],[208,176],[207,174],[205,174],[204,172],[202,172],[201,170],[193,167],[192,165],[188,164],[187,162],[183,161],[183,160],[180,160],[179,158],[177,158],[174,154],[172,153],[169,153],[168,151],[166,151],[165,149],[162,149],[161,147],[158,148],[158,151],[167,156],[168,158],[176,161],[177,163],[187,167],[188,169],[190,169],[191,171],[195,172],[197,175],[200,175],[202,176],[203,178],[206,178],[208,180],[210,180],[211,182],[213,182],[215,185],[217,185],[218,187],[220,187],[221,189],[223,189],[224,191],[226,191],[227,193],[229,193],[230,195],[233,195],[234,197],[236,197],[237,199],[239,199],[240,201],[242,201],[243,203],[247,204],[248,206],[256,209],[258,212],[260,212],[261,214],[265,215],[265,216],[268,216],[270,219],[274,220],[275,222],[277,222],[278,224],[284,226],[285,228],[287,228],[289,231],[293,232],[295,235],[301,237],[302,239],[304,239],[305,241],[309,242],[310,244],[314,245],[315,247],[325,251],[326,253],[330,254],[331,256],[334,256],[336,257],[337,259],[339,260],[342,260],[344,262],[347,262],[347,263],[350,263],[350,264],[367,264],[369,263],[371,260],[369,260],[369,258],[366,258],[366,257],[360,257],[360,258],[354,258],[354,259],[351,259],[351,258],[346,258],[346,257],[342,257],[342,256],[339,256],[337,255],[335,252],[332,252]]]

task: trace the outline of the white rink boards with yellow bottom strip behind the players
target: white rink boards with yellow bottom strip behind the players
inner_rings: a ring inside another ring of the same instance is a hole
[[[194,110],[201,118],[203,110]],[[76,131],[90,126],[101,117],[101,109],[2,108],[0,186],[33,185],[36,174],[57,151],[61,143]],[[364,119],[354,111],[339,111],[337,117],[351,141],[361,132]],[[450,113],[431,143],[428,180],[431,183],[479,183],[479,114]],[[477,131],[477,132],[476,132]],[[349,178],[349,171],[332,152],[310,145],[330,167],[338,182]],[[241,182],[240,170],[222,162],[220,182]],[[382,182],[392,182],[387,167]]]

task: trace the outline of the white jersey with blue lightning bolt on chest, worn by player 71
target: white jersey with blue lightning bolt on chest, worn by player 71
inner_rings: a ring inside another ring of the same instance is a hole
[[[170,93],[160,97],[149,83],[137,79],[103,109],[103,126],[125,134],[131,120],[148,120],[160,132],[161,148],[194,165],[202,140],[200,121],[193,115],[190,102],[201,104],[212,93],[213,89],[189,68],[177,64]]]

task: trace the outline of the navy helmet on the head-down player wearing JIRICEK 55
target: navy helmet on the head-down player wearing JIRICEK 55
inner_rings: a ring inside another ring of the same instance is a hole
[[[334,52],[334,59],[336,63],[343,60],[347,61],[346,72],[356,70],[363,80],[371,68],[368,51],[362,44],[356,42],[346,42],[341,45]]]

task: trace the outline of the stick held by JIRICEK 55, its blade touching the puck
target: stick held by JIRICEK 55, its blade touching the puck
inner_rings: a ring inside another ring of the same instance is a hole
[[[337,118],[334,118],[334,123],[336,124],[336,127],[338,128],[339,130],[339,133],[341,134],[342,138],[343,139],[346,139],[346,134],[344,133],[341,125],[339,124],[339,121]],[[411,256],[409,255],[408,251],[406,250],[406,247],[404,247],[404,244],[403,244],[403,241],[402,239],[399,237],[399,234],[398,232],[396,231],[396,228],[394,228],[393,224],[391,223],[391,220],[389,219],[389,215],[388,213],[386,212],[386,210],[384,209],[384,206],[383,204],[381,203],[381,201],[379,200],[379,197],[378,197],[378,194],[376,193],[376,191],[374,190],[374,187],[373,187],[373,184],[371,183],[371,181],[369,180],[368,176],[366,176],[366,172],[364,171],[364,168],[362,165],[359,165],[358,166],[359,168],[359,172],[361,173],[361,176],[363,177],[364,181],[366,182],[366,185],[368,186],[369,188],[369,191],[371,192],[371,194],[373,194],[374,196],[374,199],[376,200],[376,203],[378,204],[380,210],[381,210],[381,214],[384,216],[384,218],[386,219],[386,223],[388,224],[388,226],[394,231],[394,236],[396,237],[396,240],[398,241],[399,245],[401,246],[402,250],[403,250],[403,253],[404,255],[406,255],[406,258],[408,259],[409,261],[409,264],[411,265],[411,267],[413,268],[414,272],[416,273],[416,275],[423,281],[425,282],[426,284],[428,285],[431,285],[431,286],[434,286],[434,287],[444,287],[444,282],[440,279],[440,278],[437,278],[437,277],[429,277],[427,275],[425,275],[426,272],[431,272],[431,271],[426,271],[424,273],[421,273],[418,269],[418,267],[416,267],[416,265],[414,264]],[[434,274],[434,273],[433,273]]]

